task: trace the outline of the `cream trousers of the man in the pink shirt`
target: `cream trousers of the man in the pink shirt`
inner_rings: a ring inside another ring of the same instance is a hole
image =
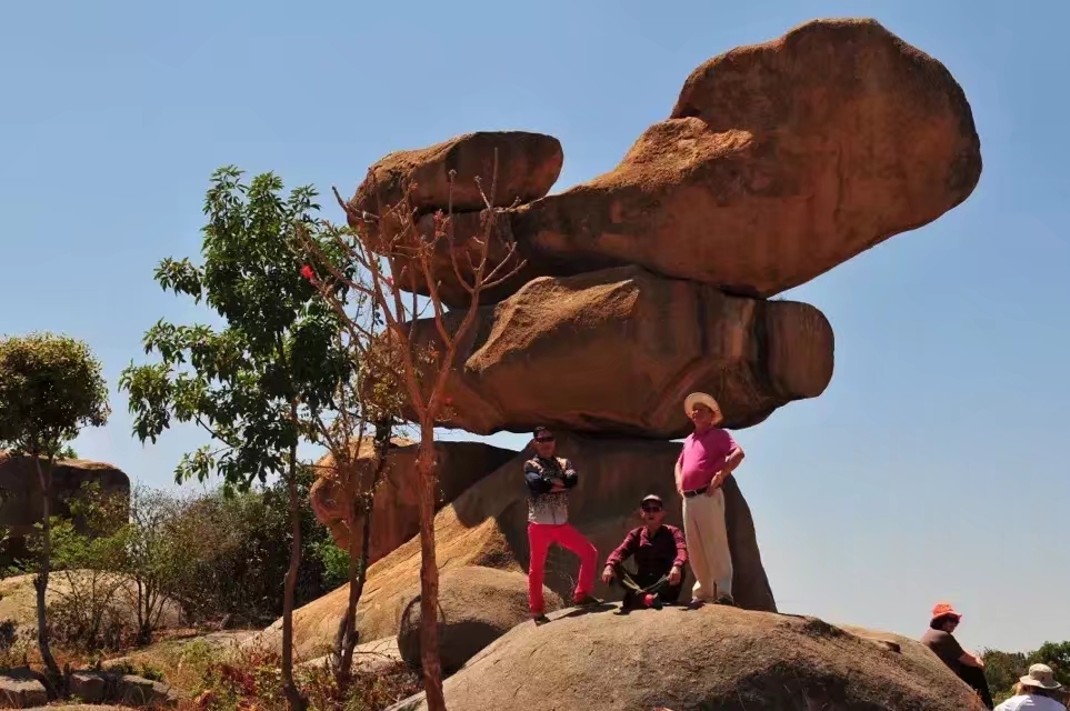
[[[732,594],[732,555],[724,525],[724,492],[712,497],[700,493],[683,499],[683,534],[688,541],[688,562],[694,574],[691,597],[713,601]]]

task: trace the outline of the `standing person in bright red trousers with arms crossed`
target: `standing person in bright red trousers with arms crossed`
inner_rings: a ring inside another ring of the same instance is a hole
[[[572,603],[598,604],[591,595],[598,567],[598,550],[587,538],[569,523],[569,489],[579,478],[572,463],[556,457],[553,433],[546,428],[534,431],[536,455],[523,463],[524,484],[528,488],[528,547],[531,562],[528,567],[528,607],[536,624],[548,622],[542,580],[546,574],[547,553],[557,543],[580,558],[580,579],[576,584]]]

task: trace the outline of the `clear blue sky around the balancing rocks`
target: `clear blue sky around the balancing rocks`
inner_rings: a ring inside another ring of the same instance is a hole
[[[837,362],[821,398],[737,433],[773,591],[911,635],[948,599],[972,647],[1070,639],[1064,3],[4,3],[0,333],[86,339],[114,387],[153,322],[203,319],[152,269],[197,254],[214,168],[350,193],[389,151],[527,129],[563,143],[560,190],[612,168],[709,57],[838,16],[947,64],[984,171],[936,223],[789,292],[828,316]],[[112,404],[77,449],[169,485],[199,437],[142,448]]]

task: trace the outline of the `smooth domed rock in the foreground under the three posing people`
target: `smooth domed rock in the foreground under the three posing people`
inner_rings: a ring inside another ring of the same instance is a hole
[[[513,629],[448,679],[450,711],[983,709],[936,654],[894,634],[863,639],[814,618],[723,607],[550,618]],[[417,697],[391,711],[426,708]]]

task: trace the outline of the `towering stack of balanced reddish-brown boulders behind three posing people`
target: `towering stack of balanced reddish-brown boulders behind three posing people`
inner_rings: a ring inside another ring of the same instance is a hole
[[[494,149],[499,190],[484,209],[474,186],[479,178],[489,190]],[[562,455],[580,471],[570,520],[602,560],[636,524],[641,494],[662,494],[679,515],[671,470],[680,445],[669,440],[689,431],[688,392],[714,395],[726,425],[739,429],[828,387],[833,336],[824,316],[768,299],[932,222],[963,202],[981,173],[962,89],[939,61],[873,20],[816,20],[709,60],[617,168],[548,194],[562,160],[548,136],[470,133],[391,153],[351,207],[378,213],[416,183],[412,239],[432,239],[432,213],[452,204],[449,229],[462,251],[477,249],[487,210],[497,212],[491,260],[507,259],[506,246],[516,243],[512,259],[523,264],[481,294],[448,384],[456,411],[448,424],[478,434],[556,429]],[[464,276],[467,260],[459,262]],[[430,269],[447,306],[466,306],[447,240],[436,243]],[[448,327],[454,319],[448,314]],[[430,321],[416,327],[426,342],[438,338]],[[443,569],[523,572],[522,457],[446,472],[443,494],[453,498],[443,497],[436,519]],[[733,478],[726,491],[737,601],[776,611]],[[387,527],[394,532],[377,539],[361,600],[362,639],[397,629],[418,580],[416,541],[387,551],[402,529],[414,529]],[[570,591],[552,570],[547,585]],[[337,617],[326,610],[337,612],[343,598],[339,591],[299,611],[299,638],[332,634]]]

